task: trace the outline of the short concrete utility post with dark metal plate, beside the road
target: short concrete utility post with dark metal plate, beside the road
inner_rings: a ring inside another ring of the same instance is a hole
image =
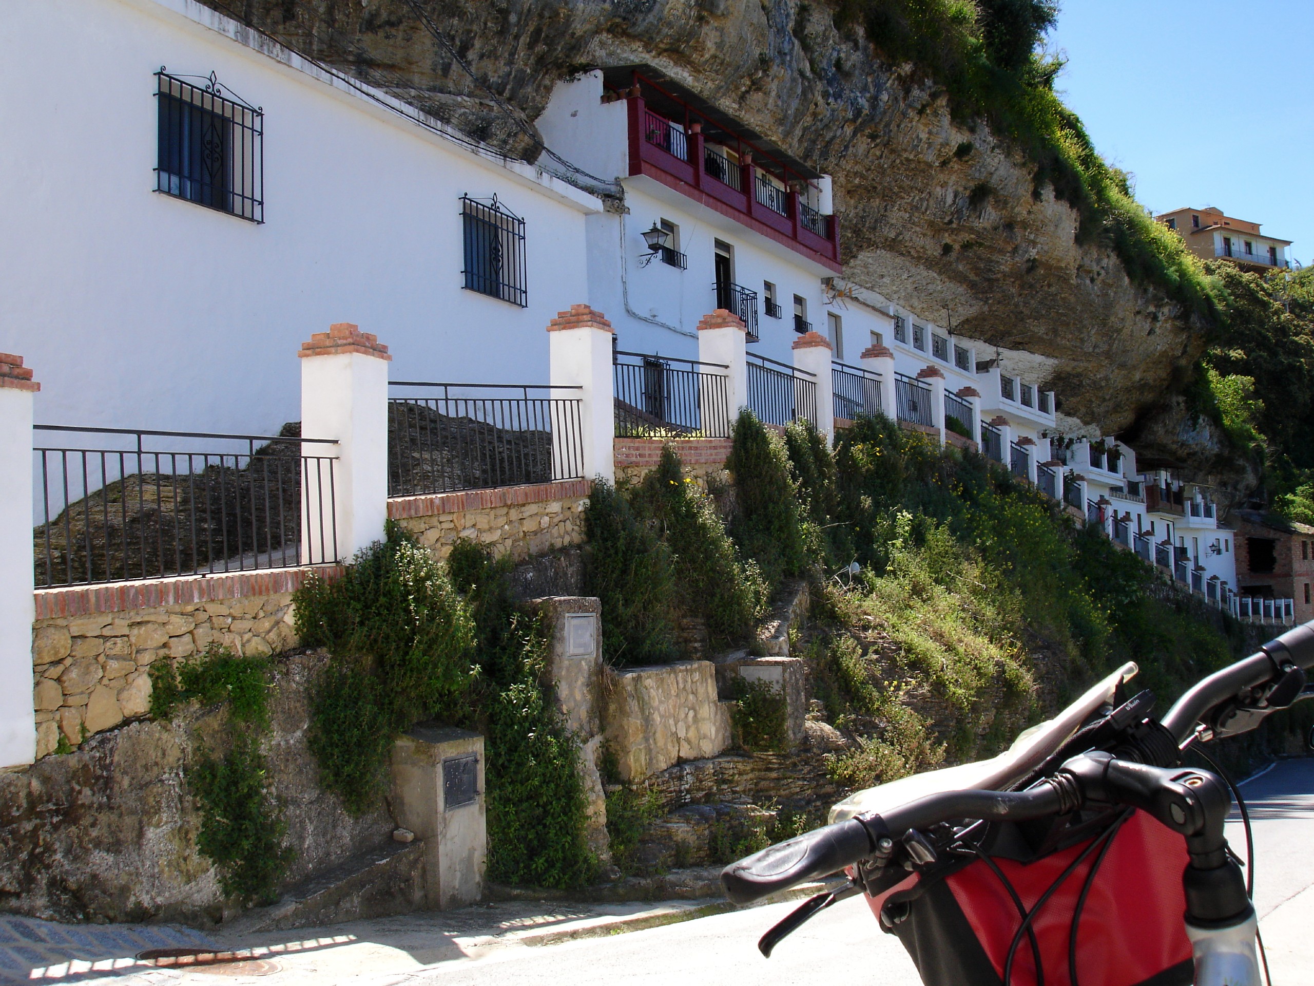
[[[484,895],[487,815],[484,738],[419,723],[393,744],[393,816],[424,840],[424,904],[445,911]]]

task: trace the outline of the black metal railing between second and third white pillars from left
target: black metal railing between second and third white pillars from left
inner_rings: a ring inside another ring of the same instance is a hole
[[[388,398],[388,496],[452,493],[583,477],[579,387],[436,384],[390,387],[438,390]],[[519,396],[466,396],[466,390]],[[530,390],[547,390],[531,397]],[[457,392],[457,393],[453,393]]]

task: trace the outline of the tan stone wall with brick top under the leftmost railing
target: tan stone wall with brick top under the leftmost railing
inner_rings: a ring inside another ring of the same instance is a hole
[[[267,656],[297,643],[292,593],[311,572],[290,568],[235,576],[187,576],[105,586],[41,589],[32,634],[37,756],[60,735],[76,748],[150,710],[150,665],[181,660],[212,643]]]

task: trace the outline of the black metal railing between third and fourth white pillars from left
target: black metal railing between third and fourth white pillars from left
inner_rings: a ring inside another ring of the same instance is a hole
[[[689,368],[677,369],[671,363]],[[729,438],[731,414],[720,363],[615,352],[618,438]]]

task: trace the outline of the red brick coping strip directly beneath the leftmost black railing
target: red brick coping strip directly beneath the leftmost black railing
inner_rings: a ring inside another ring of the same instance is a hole
[[[234,572],[172,578],[143,578],[105,585],[71,585],[37,589],[37,619],[81,617],[89,613],[125,613],[127,610],[176,606],[187,602],[243,599],[251,596],[290,593],[301,588],[307,576],[335,578],[342,565],[306,565],[272,568],[261,572]]]

